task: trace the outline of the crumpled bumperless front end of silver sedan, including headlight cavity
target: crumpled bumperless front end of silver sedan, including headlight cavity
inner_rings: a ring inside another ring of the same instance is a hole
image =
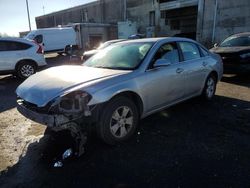
[[[17,109],[28,119],[56,128],[91,116],[91,108],[87,105],[90,99],[88,93],[74,91],[55,98],[44,107],[38,107],[18,97]]]

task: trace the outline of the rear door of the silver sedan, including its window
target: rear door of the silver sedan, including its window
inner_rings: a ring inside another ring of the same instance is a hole
[[[178,42],[178,45],[182,52],[182,64],[185,69],[185,97],[198,95],[208,74],[208,59],[203,57],[195,43],[185,41]]]

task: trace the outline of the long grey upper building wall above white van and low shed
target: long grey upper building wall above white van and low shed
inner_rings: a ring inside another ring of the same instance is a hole
[[[36,17],[36,25],[46,28],[70,23],[117,24],[124,20],[124,9],[124,0],[98,0]]]

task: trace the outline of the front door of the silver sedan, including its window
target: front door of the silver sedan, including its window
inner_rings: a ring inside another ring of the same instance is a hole
[[[170,62],[168,66],[154,67],[155,62],[162,59]],[[143,79],[142,88],[146,93],[145,111],[150,113],[159,108],[171,105],[185,94],[184,69],[180,63],[176,43],[162,45],[152,58]]]

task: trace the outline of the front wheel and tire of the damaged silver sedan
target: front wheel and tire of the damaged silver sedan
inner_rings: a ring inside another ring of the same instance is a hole
[[[109,145],[124,142],[136,131],[138,117],[138,110],[130,99],[116,97],[103,109],[98,126],[99,136]]]

